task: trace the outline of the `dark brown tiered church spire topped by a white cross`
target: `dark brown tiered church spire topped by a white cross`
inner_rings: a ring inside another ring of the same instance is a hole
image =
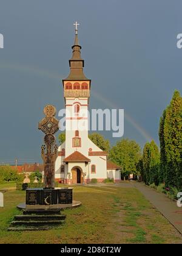
[[[69,76],[64,80],[89,80],[84,75],[84,60],[81,58],[81,46],[78,42],[78,23],[74,24],[75,27],[75,41],[72,46],[72,58],[69,60],[70,65],[70,74]]]

